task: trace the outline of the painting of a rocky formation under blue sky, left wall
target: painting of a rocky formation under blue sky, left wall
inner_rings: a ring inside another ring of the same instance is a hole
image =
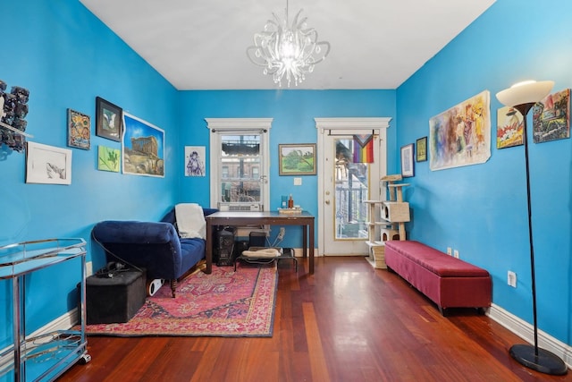
[[[164,177],[164,130],[123,113],[123,174]]]

